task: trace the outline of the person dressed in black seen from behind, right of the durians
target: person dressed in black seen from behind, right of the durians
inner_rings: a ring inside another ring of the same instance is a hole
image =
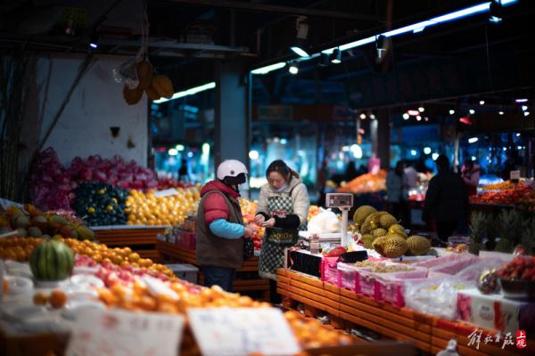
[[[451,170],[446,156],[440,155],[435,163],[438,174],[429,182],[422,219],[429,223],[434,218],[439,239],[447,241],[465,221],[468,195],[465,182]]]

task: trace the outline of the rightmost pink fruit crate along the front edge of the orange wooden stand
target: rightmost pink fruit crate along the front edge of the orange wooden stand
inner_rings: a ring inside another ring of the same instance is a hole
[[[415,271],[394,273],[377,273],[374,280],[374,299],[391,303],[397,307],[405,306],[405,284],[424,281],[427,270],[416,268]]]

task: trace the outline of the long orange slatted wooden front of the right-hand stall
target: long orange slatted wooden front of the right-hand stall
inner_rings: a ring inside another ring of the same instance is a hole
[[[474,326],[377,302],[349,289],[287,269],[279,269],[277,277],[277,292],[280,295],[292,302],[305,304],[307,314],[313,314],[315,310],[329,313],[337,321],[333,325],[339,324],[342,328],[344,323],[349,322],[383,336],[412,342],[417,349],[432,354],[444,350],[452,338],[457,339],[457,352],[464,356],[525,354],[525,350],[523,353],[514,346],[502,350],[501,344],[484,344],[484,336],[494,336],[495,332],[483,330],[480,348],[477,350],[474,346],[468,346],[467,336],[473,332]],[[528,345],[534,343],[535,340],[527,342]]]

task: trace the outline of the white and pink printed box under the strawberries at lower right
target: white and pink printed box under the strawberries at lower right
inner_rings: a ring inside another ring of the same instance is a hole
[[[535,303],[506,299],[503,295],[483,295],[477,288],[457,293],[457,319],[488,330],[516,334],[535,332]]]

